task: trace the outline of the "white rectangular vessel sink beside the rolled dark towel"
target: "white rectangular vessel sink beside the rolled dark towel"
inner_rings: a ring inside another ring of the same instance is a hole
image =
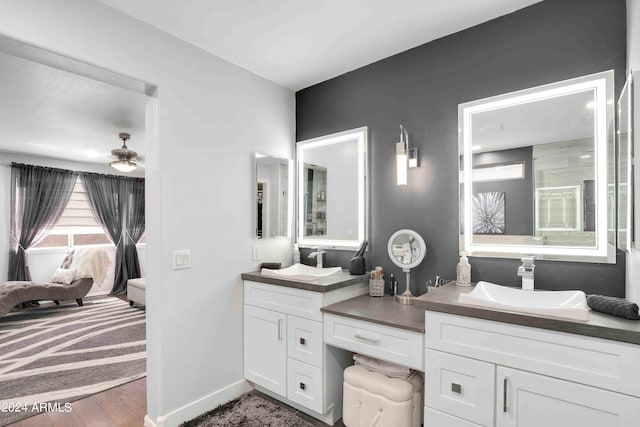
[[[521,313],[589,320],[587,297],[582,291],[523,291],[478,282],[473,291],[460,294],[458,302]]]

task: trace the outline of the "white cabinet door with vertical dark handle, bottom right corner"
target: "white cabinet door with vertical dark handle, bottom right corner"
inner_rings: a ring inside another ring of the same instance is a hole
[[[632,427],[640,399],[499,366],[497,427]]]

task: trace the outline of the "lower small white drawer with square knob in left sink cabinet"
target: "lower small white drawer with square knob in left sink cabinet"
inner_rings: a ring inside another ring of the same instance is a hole
[[[287,399],[324,414],[322,369],[287,359]]]

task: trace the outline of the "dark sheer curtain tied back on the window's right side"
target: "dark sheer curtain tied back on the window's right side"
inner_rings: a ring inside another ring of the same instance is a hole
[[[144,234],[144,178],[82,173],[91,210],[116,245],[112,294],[127,292],[127,280],[140,277],[136,243]]]

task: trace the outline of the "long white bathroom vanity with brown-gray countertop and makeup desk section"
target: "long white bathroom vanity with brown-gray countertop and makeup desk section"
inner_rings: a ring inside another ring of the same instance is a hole
[[[298,283],[242,275],[244,373],[317,419],[342,415],[351,352],[425,373],[425,427],[632,427],[640,420],[640,322],[576,321],[458,302],[448,284],[401,305],[367,276]]]

